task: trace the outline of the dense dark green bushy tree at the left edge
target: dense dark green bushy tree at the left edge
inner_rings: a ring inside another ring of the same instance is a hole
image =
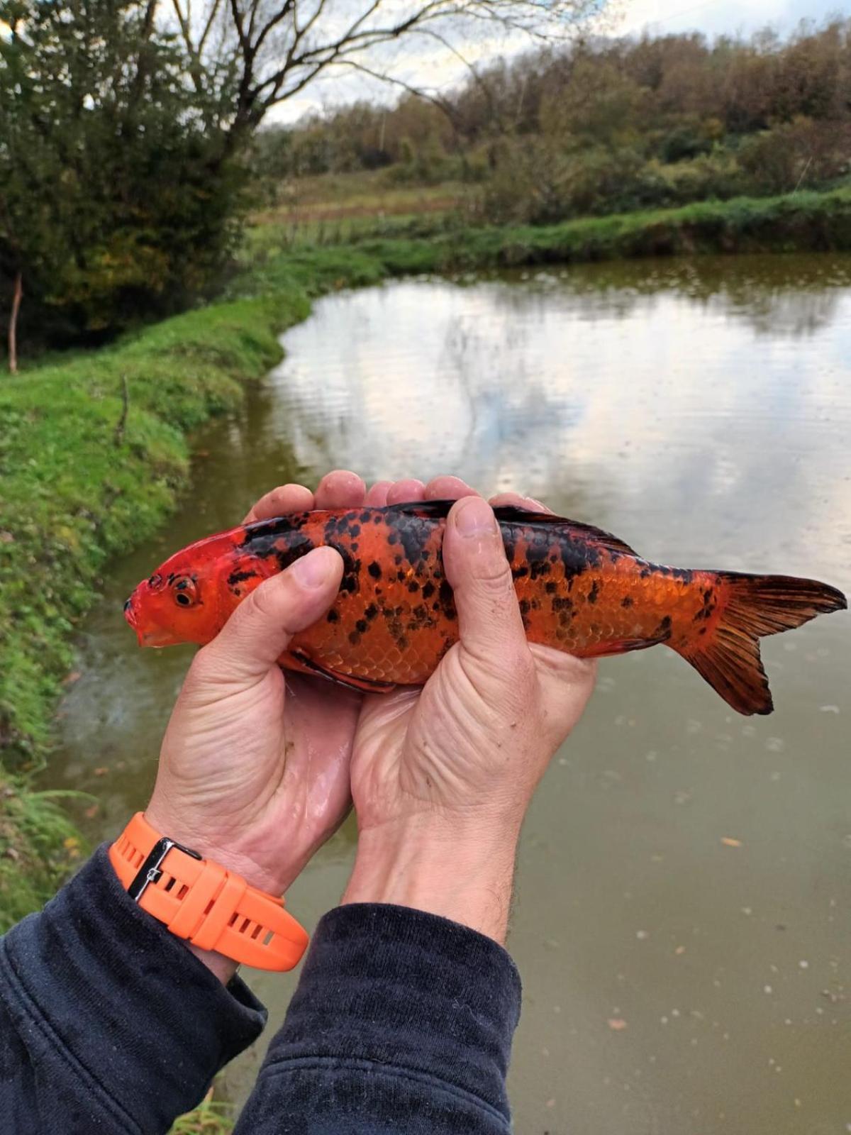
[[[155,0],[0,0],[3,26],[0,294],[12,363],[18,311],[31,336],[64,343],[209,287],[229,249],[236,171],[221,161],[221,108],[186,83]]]

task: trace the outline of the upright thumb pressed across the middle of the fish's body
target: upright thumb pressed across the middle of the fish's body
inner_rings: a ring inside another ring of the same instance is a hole
[[[452,506],[444,568],[455,592],[461,644],[481,661],[513,669],[530,658],[511,568],[494,511],[481,497]]]

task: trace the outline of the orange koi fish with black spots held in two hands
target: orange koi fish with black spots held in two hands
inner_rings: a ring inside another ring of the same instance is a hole
[[[312,548],[343,557],[339,594],[279,659],[357,690],[419,686],[458,637],[441,558],[452,501],[311,511],[176,553],[125,604],[141,646],[209,642],[246,595]],[[664,644],[742,714],[773,707],[759,639],[846,606],[826,583],[642,560],[590,524],[496,510],[529,641],[582,658]]]

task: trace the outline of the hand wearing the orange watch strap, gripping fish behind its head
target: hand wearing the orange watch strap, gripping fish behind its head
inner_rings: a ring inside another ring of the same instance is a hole
[[[370,493],[386,496],[387,485]],[[315,495],[301,485],[272,489],[244,522],[364,503],[371,499],[361,478],[337,470]],[[277,664],[292,634],[334,602],[340,573],[336,552],[312,552],[262,583],[199,650],[145,809],[158,831],[273,894],[286,891],[351,805],[361,696]],[[233,973],[227,959],[192,949],[225,980]]]

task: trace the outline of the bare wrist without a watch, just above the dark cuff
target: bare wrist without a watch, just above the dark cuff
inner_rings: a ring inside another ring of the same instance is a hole
[[[412,907],[503,944],[519,835],[515,821],[431,815],[362,830],[342,903]]]

